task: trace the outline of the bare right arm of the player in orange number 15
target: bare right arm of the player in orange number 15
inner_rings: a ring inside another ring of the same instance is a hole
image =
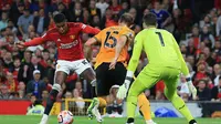
[[[118,40],[116,49],[115,49],[115,58],[112,61],[112,63],[109,64],[109,70],[115,69],[115,65],[117,63],[117,60],[118,60],[119,54],[122,52],[122,49],[125,46],[126,42],[127,42],[127,37],[126,35],[119,37],[119,40]]]

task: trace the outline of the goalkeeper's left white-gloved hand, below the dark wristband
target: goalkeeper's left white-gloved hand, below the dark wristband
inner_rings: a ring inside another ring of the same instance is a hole
[[[125,83],[119,86],[119,90],[117,92],[117,99],[124,100],[127,96],[127,91],[129,89],[130,82],[128,80],[125,80]]]

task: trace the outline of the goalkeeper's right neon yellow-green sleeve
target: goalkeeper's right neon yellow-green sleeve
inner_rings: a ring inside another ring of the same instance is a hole
[[[171,38],[172,38],[172,42],[173,42],[173,45],[175,45],[173,48],[175,48],[177,55],[178,55],[178,58],[181,62],[181,72],[183,73],[185,76],[187,76],[189,74],[189,70],[188,70],[187,64],[185,62],[185,59],[183,59],[183,56],[180,52],[180,49],[179,49],[177,41],[175,40],[175,38],[172,35],[171,35]]]

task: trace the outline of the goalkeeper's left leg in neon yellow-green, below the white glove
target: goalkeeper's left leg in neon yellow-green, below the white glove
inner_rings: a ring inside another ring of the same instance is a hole
[[[127,96],[127,124],[134,124],[135,110],[137,107],[138,96],[146,90],[150,89],[160,80],[158,71],[150,71],[145,68],[131,84]],[[146,121],[147,124],[155,124],[152,121]]]

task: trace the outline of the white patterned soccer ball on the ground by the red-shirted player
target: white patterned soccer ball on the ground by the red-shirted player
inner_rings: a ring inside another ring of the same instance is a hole
[[[70,111],[62,111],[57,115],[59,124],[72,124],[73,123],[73,114]]]

